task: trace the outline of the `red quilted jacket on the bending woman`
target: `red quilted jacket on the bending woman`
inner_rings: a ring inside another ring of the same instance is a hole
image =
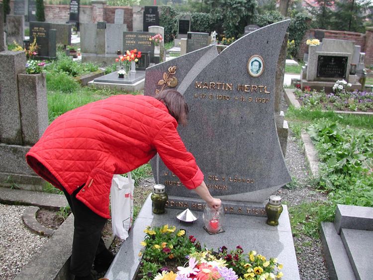
[[[203,174],[177,132],[177,121],[159,100],[116,95],[69,111],[52,122],[26,155],[29,166],[55,187],[109,218],[113,174],[125,174],[158,152],[166,166],[189,189]]]

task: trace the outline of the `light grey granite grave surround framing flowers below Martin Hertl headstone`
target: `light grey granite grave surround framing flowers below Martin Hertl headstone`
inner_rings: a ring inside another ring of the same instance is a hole
[[[187,235],[193,235],[207,248],[226,246],[228,250],[233,250],[240,245],[245,253],[255,250],[266,258],[278,258],[279,263],[283,264],[282,280],[300,279],[286,205],[283,205],[277,227],[267,225],[265,217],[242,219],[239,215],[226,214],[223,225],[225,232],[215,235],[203,229],[201,213],[196,214],[198,219],[193,223],[184,223],[176,218],[180,212],[179,209],[168,208],[166,214],[153,214],[149,195],[105,277],[109,280],[134,279],[141,261],[138,254],[143,248],[140,242],[145,238],[144,229],[148,225],[156,227],[168,224],[185,229]]]

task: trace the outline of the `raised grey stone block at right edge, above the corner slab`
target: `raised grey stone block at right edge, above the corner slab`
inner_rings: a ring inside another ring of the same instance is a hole
[[[373,208],[337,204],[334,225],[338,234],[342,228],[373,231]]]

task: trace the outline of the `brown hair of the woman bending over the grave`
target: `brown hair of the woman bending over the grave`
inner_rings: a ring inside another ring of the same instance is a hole
[[[170,115],[172,115],[179,124],[183,126],[187,125],[189,107],[182,94],[175,90],[164,90],[158,93],[155,98],[166,105]]]

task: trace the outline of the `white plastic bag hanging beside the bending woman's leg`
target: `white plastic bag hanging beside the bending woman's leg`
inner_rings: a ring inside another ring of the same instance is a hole
[[[111,182],[111,224],[113,235],[125,240],[132,226],[135,180],[114,174]]]

